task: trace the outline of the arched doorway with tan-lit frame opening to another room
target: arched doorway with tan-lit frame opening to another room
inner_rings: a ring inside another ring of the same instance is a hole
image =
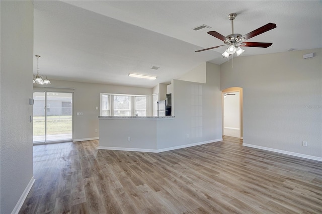
[[[243,88],[222,90],[222,135],[243,139]]]

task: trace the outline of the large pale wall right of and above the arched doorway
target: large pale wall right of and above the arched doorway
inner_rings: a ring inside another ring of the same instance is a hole
[[[303,59],[303,54],[314,53]],[[220,88],[243,87],[244,143],[322,157],[321,49],[236,57]],[[307,147],[301,146],[306,141]]]

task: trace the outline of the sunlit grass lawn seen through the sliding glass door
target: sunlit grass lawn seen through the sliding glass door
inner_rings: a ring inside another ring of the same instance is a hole
[[[71,116],[48,116],[47,135],[71,133]],[[34,117],[34,136],[45,135],[45,117]]]

